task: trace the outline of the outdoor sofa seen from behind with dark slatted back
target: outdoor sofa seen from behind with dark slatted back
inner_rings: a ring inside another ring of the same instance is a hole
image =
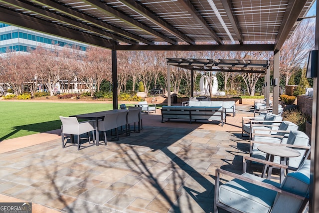
[[[221,126],[226,123],[226,112],[222,106],[162,106],[161,122],[164,119],[186,119],[191,124],[192,120],[220,121]]]

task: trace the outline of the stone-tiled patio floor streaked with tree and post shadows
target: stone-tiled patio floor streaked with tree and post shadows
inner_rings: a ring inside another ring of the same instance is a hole
[[[3,141],[1,201],[76,213],[212,212],[215,169],[241,174],[249,156],[243,116],[253,116],[249,106],[239,106],[223,127],[189,125],[161,123],[158,110],[142,114],[140,133],[83,143],[79,151],[69,143],[62,149],[61,130]]]

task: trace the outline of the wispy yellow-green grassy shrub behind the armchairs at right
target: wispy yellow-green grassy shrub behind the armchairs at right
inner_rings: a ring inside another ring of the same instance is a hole
[[[306,129],[306,121],[311,120],[310,116],[303,114],[298,109],[284,111],[282,117],[285,121],[297,124],[299,126],[299,130],[303,132],[305,132]]]

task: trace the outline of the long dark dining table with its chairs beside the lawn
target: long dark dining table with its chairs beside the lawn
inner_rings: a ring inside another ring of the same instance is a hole
[[[91,142],[91,134],[93,137],[93,144],[99,146],[99,131],[104,133],[104,143],[107,142],[107,131],[115,130],[115,139],[119,140],[118,129],[124,131],[124,135],[130,135],[130,132],[140,132],[143,128],[141,118],[142,107],[129,107],[128,109],[115,109],[102,112],[93,112],[80,115],[71,115],[69,117],[60,116],[62,122],[61,139],[62,147],[66,143],[74,143],[74,135],[77,136],[77,147],[80,149],[81,135],[87,133],[89,143]],[[78,119],[86,121],[79,122]],[[134,123],[134,129],[131,129],[131,124]],[[137,124],[137,125],[136,125]],[[123,129],[124,127],[124,129]],[[70,138],[65,142],[65,134]],[[113,138],[113,139],[114,139]]]

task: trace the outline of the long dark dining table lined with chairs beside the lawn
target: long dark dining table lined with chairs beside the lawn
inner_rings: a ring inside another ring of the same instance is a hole
[[[104,116],[108,113],[118,112],[118,109],[101,111],[101,112],[91,112],[79,115],[70,115],[69,117],[76,117],[77,119],[84,120],[94,120],[94,129],[95,129],[95,142],[96,146],[99,146],[100,137],[99,137],[99,120],[104,120]]]

